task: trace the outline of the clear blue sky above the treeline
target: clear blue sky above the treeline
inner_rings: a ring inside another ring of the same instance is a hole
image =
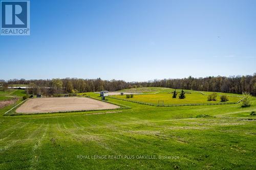
[[[31,0],[30,10],[30,36],[0,36],[0,79],[256,72],[253,0]]]

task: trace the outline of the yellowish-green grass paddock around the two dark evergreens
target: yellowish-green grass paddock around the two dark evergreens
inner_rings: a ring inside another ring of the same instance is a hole
[[[177,90],[178,93],[180,93],[180,90]],[[201,104],[201,103],[220,103],[220,95],[217,96],[217,101],[207,101],[208,95],[203,95],[200,92],[196,91],[186,91],[185,99],[179,99],[179,96],[177,95],[177,98],[173,99],[173,93],[170,92],[159,92],[156,94],[134,94],[133,98],[129,98],[131,101],[137,101],[137,102],[145,102],[145,103],[153,103],[158,104],[159,101],[164,101],[164,104],[172,105],[172,104]],[[211,92],[212,93],[212,92]],[[210,93],[207,93],[210,94]],[[229,95],[227,93],[221,93],[225,95]],[[120,99],[126,99],[126,95],[116,95],[115,98]],[[229,101],[228,102],[222,102],[222,103],[229,103],[229,102],[238,102],[242,98],[239,96],[228,96]]]

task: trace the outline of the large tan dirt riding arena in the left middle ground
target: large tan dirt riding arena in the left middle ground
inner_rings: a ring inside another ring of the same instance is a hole
[[[17,108],[17,113],[48,113],[81,110],[116,109],[119,106],[90,98],[37,98]]]

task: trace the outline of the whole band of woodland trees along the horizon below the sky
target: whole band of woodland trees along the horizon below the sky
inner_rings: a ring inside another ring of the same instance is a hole
[[[6,88],[13,84],[28,85],[29,93],[52,95],[56,93],[94,92],[101,90],[116,91],[134,87],[168,87],[199,91],[216,91],[238,93],[249,92],[256,95],[256,74],[247,76],[206,77],[184,79],[163,79],[148,82],[125,82],[122,80],[98,79],[52,79],[52,80],[25,80],[12,79],[0,81],[0,86]]]

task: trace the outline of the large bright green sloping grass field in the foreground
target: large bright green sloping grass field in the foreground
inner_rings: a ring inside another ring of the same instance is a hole
[[[155,107],[108,100],[131,109],[19,116],[3,116],[8,108],[0,109],[0,169],[256,167],[256,117],[250,115],[256,111],[255,98],[247,108]],[[123,158],[109,157],[118,155]]]

